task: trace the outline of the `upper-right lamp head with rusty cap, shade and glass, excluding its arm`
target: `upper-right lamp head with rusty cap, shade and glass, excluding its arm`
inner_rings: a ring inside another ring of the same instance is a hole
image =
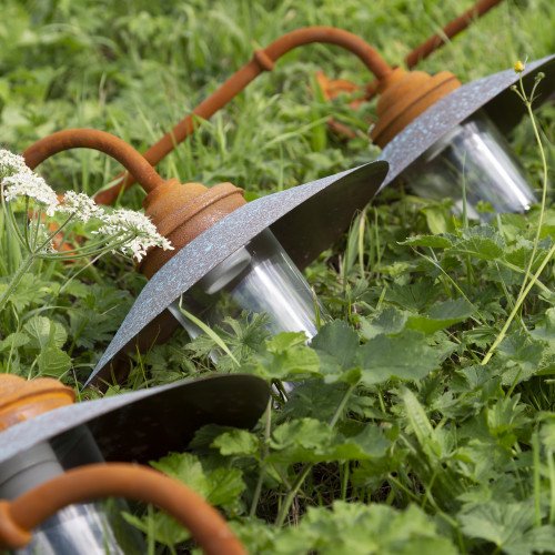
[[[379,100],[380,120],[371,131],[383,148],[380,158],[391,164],[383,186],[401,178],[422,196],[451,196],[461,210],[464,183],[471,209],[486,201],[495,212],[526,211],[535,196],[504,134],[525,113],[511,87],[522,77],[531,89],[538,72],[545,74],[536,89],[538,105],[555,90],[554,56],[528,63],[521,75],[511,69],[465,85],[446,80],[434,87],[427,80],[424,97],[403,91],[405,82],[426,79],[420,72],[401,78],[397,98]],[[392,111],[401,117],[392,118]]]

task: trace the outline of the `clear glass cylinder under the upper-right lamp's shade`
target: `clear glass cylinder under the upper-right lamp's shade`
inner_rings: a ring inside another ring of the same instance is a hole
[[[458,213],[465,195],[467,214],[474,219],[492,215],[476,211],[480,201],[497,213],[525,212],[536,202],[524,170],[484,112],[442,137],[405,171],[405,178],[423,198],[452,198]]]

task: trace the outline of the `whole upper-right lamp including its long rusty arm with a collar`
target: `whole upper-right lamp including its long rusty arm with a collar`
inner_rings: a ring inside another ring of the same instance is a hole
[[[483,13],[495,3],[478,2],[477,8]],[[464,20],[460,20],[458,27]],[[457,26],[453,29],[456,30]],[[529,84],[533,71],[544,71],[546,78],[536,89],[537,103],[544,102],[554,84],[551,58],[528,64],[521,75],[508,71],[462,85],[448,71],[430,75],[392,68],[360,37],[325,27],[292,31],[270,47],[258,50],[251,62],[149,149],[145,158],[152,164],[158,163],[194,131],[194,117],[211,117],[261,71],[271,70],[274,61],[285,52],[312,42],[345,48],[375,74],[376,84],[370,87],[369,93],[376,92],[380,99],[377,121],[371,137],[384,149],[381,158],[392,162],[384,185],[402,173],[415,192],[427,198],[452,198],[456,210],[462,209],[465,196],[468,213],[475,216],[478,215],[475,206],[480,201],[490,203],[495,212],[524,212],[535,202],[524,172],[503,137],[524,113],[517,95],[507,89],[519,77]],[[428,53],[433,44],[436,41],[418,52],[422,56]],[[410,65],[415,63],[413,58],[408,61]],[[333,94],[342,89],[353,91],[353,84],[344,80],[329,82],[325,87]],[[132,176],[122,180],[120,185],[133,181]],[[120,189],[117,185],[102,191],[97,199],[111,202]]]

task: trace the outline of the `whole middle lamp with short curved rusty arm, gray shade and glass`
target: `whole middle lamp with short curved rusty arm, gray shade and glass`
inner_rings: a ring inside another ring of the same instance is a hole
[[[89,380],[139,335],[140,349],[179,324],[194,337],[199,321],[214,324],[241,311],[265,314],[274,333],[315,335],[320,307],[301,270],[341,235],[387,172],[385,162],[373,162],[246,203],[231,183],[164,181],[129,144],[101,131],[61,131],[24,155],[36,168],[77,147],[107,152],[133,172],[148,192],[147,215],[174,246],[148,252],[140,270],[150,281]]]

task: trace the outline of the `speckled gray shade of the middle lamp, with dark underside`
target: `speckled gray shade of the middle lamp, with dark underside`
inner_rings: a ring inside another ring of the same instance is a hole
[[[306,266],[372,200],[387,169],[386,162],[361,165],[249,202],[220,220],[147,283],[88,383],[182,293],[266,228],[299,268]]]

